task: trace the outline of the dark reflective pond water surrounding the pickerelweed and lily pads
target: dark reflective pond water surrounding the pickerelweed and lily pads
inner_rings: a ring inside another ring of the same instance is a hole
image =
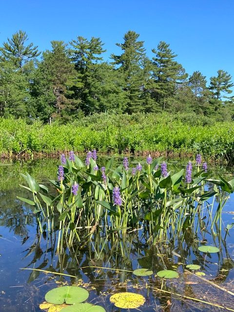
[[[104,160],[103,160],[104,161]],[[117,159],[118,161],[118,159]],[[134,159],[138,161],[138,159]],[[101,235],[93,237],[86,246],[56,254],[56,234],[39,234],[35,217],[30,207],[22,205],[17,195],[26,197],[19,184],[23,184],[20,173],[29,172],[40,182],[56,176],[57,160],[39,160],[31,163],[0,164],[0,312],[38,312],[45,293],[60,283],[81,285],[90,291],[88,302],[103,306],[107,312],[121,311],[110,303],[115,292],[136,292],[146,298],[146,303],[131,311],[227,311],[176,294],[193,297],[206,302],[233,308],[234,296],[210,285],[194,274],[187,273],[185,264],[199,264],[204,278],[234,292],[234,229],[224,241],[210,232],[195,236],[186,234],[181,241],[158,242],[151,246],[139,241],[136,233],[129,234],[124,241],[111,238],[105,241]],[[181,164],[171,161],[171,167]],[[233,176],[232,168],[213,167],[213,176],[220,172]],[[234,194],[230,195],[224,212],[223,228],[234,222]],[[204,221],[205,222],[205,221]],[[198,251],[201,241],[219,247],[221,252],[204,256]],[[93,268],[95,267],[95,268]],[[99,268],[100,269],[99,269]],[[119,269],[119,271],[102,268]],[[177,270],[178,279],[166,282],[159,292],[161,280],[156,272],[165,269]],[[37,268],[50,272],[73,275],[60,276],[21,268]],[[137,268],[149,268],[155,273],[150,277],[137,277],[131,272]],[[120,271],[123,270],[123,271]],[[174,293],[174,294],[172,294]],[[122,310],[124,311],[124,309]]]

